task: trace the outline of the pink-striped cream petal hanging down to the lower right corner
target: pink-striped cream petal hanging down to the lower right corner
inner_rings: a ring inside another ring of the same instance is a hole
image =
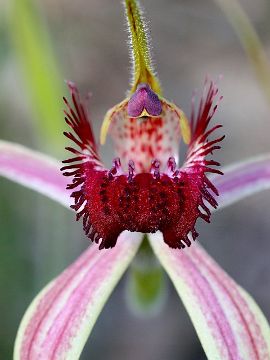
[[[170,276],[209,360],[269,360],[270,328],[254,300],[202,249],[151,245]]]

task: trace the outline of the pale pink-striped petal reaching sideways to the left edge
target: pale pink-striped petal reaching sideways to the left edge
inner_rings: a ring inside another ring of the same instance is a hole
[[[0,175],[69,207],[66,180],[57,160],[24,146],[0,141]]]

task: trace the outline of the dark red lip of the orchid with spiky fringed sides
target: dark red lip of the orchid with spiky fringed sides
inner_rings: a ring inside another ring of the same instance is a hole
[[[80,150],[67,148],[75,157],[63,161],[61,170],[72,176],[68,189],[78,190],[71,195],[77,212],[82,218],[86,235],[99,248],[115,246],[124,230],[142,233],[161,231],[164,241],[172,248],[190,246],[198,233],[195,223],[198,218],[210,222],[209,206],[217,207],[217,189],[206,176],[207,172],[222,174],[213,166],[219,163],[205,157],[220,148],[223,137],[208,141],[208,136],[220,126],[206,132],[206,127],[215,112],[211,111],[216,88],[211,83],[208,95],[201,102],[196,121],[192,115],[192,139],[184,167],[177,168],[173,157],[168,159],[166,169],[154,159],[149,172],[136,173],[132,160],[124,171],[119,158],[111,169],[105,169],[97,153],[85,104],[77,89],[69,83],[74,108],[67,100],[66,122],[73,133],[65,135],[73,140]],[[199,130],[198,130],[199,129]]]

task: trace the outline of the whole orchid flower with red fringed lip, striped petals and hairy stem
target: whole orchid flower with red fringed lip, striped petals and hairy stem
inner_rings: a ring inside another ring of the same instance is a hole
[[[208,359],[270,359],[270,328],[254,300],[194,243],[198,218],[270,187],[270,154],[223,170],[207,156],[223,136],[208,127],[220,97],[207,82],[190,120],[162,97],[138,3],[126,0],[133,79],[126,99],[105,115],[100,140],[110,134],[117,158],[106,169],[86,102],[69,82],[65,132],[75,157],[58,161],[0,142],[0,174],[34,189],[82,219],[94,242],[33,300],[18,330],[14,358],[78,359],[102,307],[147,239],[171,278]],[[180,138],[186,160],[178,164]],[[206,174],[212,173],[211,177]],[[144,235],[146,234],[146,235]],[[97,245],[99,244],[99,245]]]

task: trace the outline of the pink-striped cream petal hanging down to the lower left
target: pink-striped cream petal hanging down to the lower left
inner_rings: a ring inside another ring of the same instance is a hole
[[[142,235],[124,232],[117,246],[93,245],[34,299],[18,331],[15,360],[76,360]]]

